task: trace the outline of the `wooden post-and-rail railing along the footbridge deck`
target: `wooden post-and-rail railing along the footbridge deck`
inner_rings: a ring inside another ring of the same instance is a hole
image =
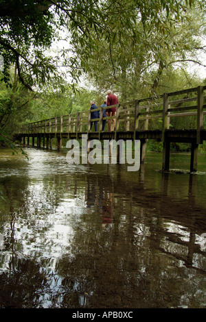
[[[102,131],[102,121],[115,119],[115,131],[146,131],[160,129],[197,129],[198,140],[200,131],[204,128],[206,86],[198,86],[176,92],[169,92],[158,97],[148,97],[117,104],[115,116],[103,118],[103,109],[98,108],[100,117],[98,132]],[[95,110],[92,110],[94,112]],[[181,121],[187,116],[187,121]],[[25,124],[21,128],[22,134],[62,134],[71,132],[91,131],[91,111],[58,116],[52,119]]]

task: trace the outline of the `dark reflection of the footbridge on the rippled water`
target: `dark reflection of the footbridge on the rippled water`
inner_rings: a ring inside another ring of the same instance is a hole
[[[122,245],[129,243],[128,251],[135,254],[134,261],[138,262],[137,252],[139,252],[139,256],[144,256],[148,264],[146,253],[148,249],[151,253],[153,253],[152,249],[155,249],[170,258],[182,261],[185,267],[206,276],[206,270],[201,264],[205,261],[206,253],[199,243],[201,234],[206,231],[206,208],[204,201],[200,201],[201,196],[198,195],[197,176],[188,176],[188,184],[184,181],[184,185],[180,188],[180,200],[179,195],[171,194],[168,173],[160,175],[159,184],[156,188],[150,189],[145,179],[144,164],[141,164],[138,175],[130,178],[129,185],[125,171],[117,171],[114,175],[110,166],[106,169],[106,175],[103,177],[95,175],[95,180],[90,171],[84,173],[84,188],[80,185],[79,174],[76,173],[73,174],[72,184],[69,176],[62,174],[54,179],[54,183],[68,189],[71,198],[80,197],[81,193],[84,193],[82,199],[87,203],[87,207],[93,208],[96,216],[102,214],[102,226],[112,224],[110,234],[111,236],[115,234],[117,244],[113,245],[116,245],[118,249],[113,249],[112,256],[118,253]],[[122,214],[127,215],[126,219],[122,219],[121,225],[119,223]],[[89,218],[87,224],[91,227],[89,220],[92,221],[93,217],[89,216]],[[138,227],[141,227],[139,234],[137,234]],[[184,231],[183,234],[181,230]],[[98,232],[99,230],[93,232],[93,238],[98,240],[98,245],[100,245],[102,239]],[[139,238],[139,245],[144,245],[146,239],[150,240],[148,248],[137,247],[137,243],[134,242],[134,240],[137,242],[137,238]],[[113,243],[112,240],[110,240],[111,243]],[[110,247],[108,248],[111,249]],[[124,247],[121,250],[122,252],[119,252],[124,254]],[[157,256],[156,251],[153,253],[155,257]],[[88,256],[90,255],[88,253]],[[161,265],[158,267],[161,269]]]

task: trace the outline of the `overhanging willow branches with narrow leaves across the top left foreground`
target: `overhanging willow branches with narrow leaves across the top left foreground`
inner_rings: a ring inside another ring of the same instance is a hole
[[[78,80],[82,73],[91,72],[89,57],[99,52],[98,40],[119,42],[124,50],[126,31],[133,44],[139,40],[139,21],[163,32],[168,16],[183,16],[187,2],[193,5],[197,0],[0,0],[3,80],[9,81],[10,64],[16,65],[19,81],[29,90],[58,77],[58,64]],[[71,47],[49,55],[62,30]]]

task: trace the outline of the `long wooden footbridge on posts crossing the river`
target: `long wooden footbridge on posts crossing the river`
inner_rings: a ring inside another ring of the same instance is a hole
[[[163,171],[169,170],[170,143],[190,143],[191,159],[190,171],[197,170],[198,145],[206,140],[204,115],[206,104],[204,90],[206,86],[198,86],[178,92],[170,92],[158,97],[136,99],[126,103],[119,103],[116,116],[103,118],[100,110],[98,132],[91,132],[91,113],[82,111],[76,114],[59,116],[34,123],[23,125],[20,138],[27,138],[27,144],[34,146],[52,147],[52,139],[57,139],[58,149],[62,146],[62,138],[81,138],[87,134],[88,140],[141,140],[141,162],[146,154],[146,141],[155,139],[163,142]],[[108,108],[108,107],[107,107]],[[110,107],[111,108],[111,107]],[[95,110],[93,110],[95,111]],[[183,129],[179,122],[181,117],[187,116]],[[102,132],[102,121],[116,119],[115,131]],[[92,121],[95,121],[94,119]]]

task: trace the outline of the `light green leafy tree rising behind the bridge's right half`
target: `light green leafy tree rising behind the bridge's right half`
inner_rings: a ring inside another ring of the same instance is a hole
[[[168,1],[168,7],[159,7],[157,16],[142,16],[141,9],[135,8],[137,1],[129,3],[130,6],[133,3],[136,17],[130,28],[122,29],[122,21],[117,19],[113,26],[114,40],[106,42],[93,35],[97,50],[91,50],[89,58],[85,57],[90,68],[89,78],[99,90],[105,92],[112,87],[123,100],[155,95],[159,91],[174,90],[161,82],[163,75],[169,77],[179,68],[187,79],[189,63],[206,67],[198,58],[200,53],[206,53],[205,45],[201,45],[206,36],[205,8],[201,1],[195,1],[192,7],[179,1],[182,3],[179,14],[170,10]],[[78,56],[84,57],[86,48],[76,48]],[[187,86],[190,85],[188,79]]]

